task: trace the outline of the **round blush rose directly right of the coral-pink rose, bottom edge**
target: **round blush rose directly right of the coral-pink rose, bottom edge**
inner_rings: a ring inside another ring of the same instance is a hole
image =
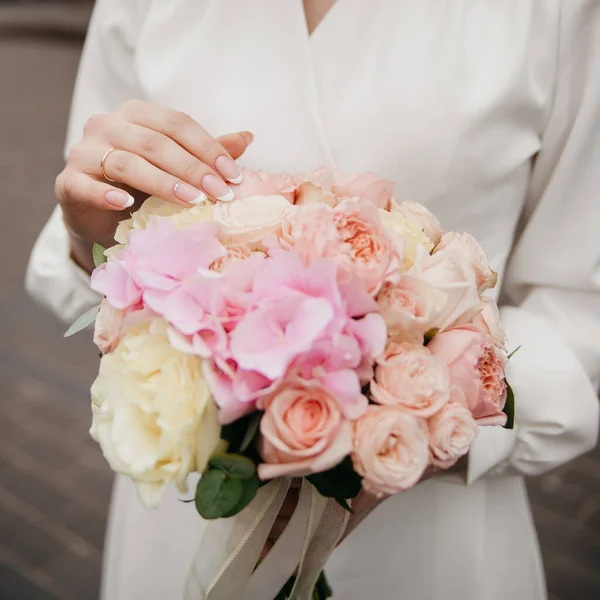
[[[394,406],[369,406],[354,423],[352,463],[378,498],[411,488],[429,463],[425,421]]]

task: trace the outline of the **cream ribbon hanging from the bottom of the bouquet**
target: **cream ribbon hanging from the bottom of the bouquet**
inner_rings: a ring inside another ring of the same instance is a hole
[[[241,513],[207,525],[192,562],[184,600],[275,598],[294,574],[290,600],[310,600],[350,515],[303,479],[290,522],[256,567],[290,484],[290,478],[274,480],[260,488]]]

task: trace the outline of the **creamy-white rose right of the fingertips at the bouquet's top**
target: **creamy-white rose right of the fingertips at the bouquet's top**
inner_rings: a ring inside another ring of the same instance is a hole
[[[255,249],[265,236],[279,233],[296,210],[283,196],[253,196],[217,204],[214,220],[227,229],[233,241]]]

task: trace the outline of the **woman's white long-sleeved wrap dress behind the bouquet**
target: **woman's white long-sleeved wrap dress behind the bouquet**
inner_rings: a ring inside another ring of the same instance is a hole
[[[375,171],[481,241],[522,344],[516,428],[481,432],[468,485],[386,501],[328,574],[341,600],[545,598],[522,475],[598,428],[600,2],[338,0],[309,37],[302,0],[98,0],[67,147],[130,97],[251,130],[251,168]],[[96,301],[87,281],[56,212],[28,287],[69,320]],[[103,598],[180,598],[203,527],[174,491],[150,511],[118,479]]]

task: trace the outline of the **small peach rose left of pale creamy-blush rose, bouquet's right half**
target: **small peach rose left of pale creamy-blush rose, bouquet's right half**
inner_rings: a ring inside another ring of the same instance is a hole
[[[446,294],[425,281],[402,276],[397,283],[383,284],[377,304],[390,337],[422,344],[425,333],[446,305]]]

